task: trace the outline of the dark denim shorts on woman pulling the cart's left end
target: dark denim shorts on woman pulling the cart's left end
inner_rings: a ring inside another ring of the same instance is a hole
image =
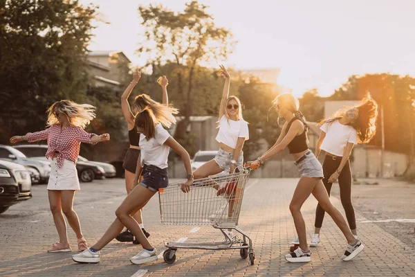
[[[169,176],[167,168],[158,168],[157,166],[145,165],[142,169],[142,181],[140,185],[151,191],[158,191],[159,188],[169,186]]]

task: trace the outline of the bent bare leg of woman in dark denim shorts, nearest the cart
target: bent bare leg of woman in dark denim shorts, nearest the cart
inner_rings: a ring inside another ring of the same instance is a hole
[[[138,208],[144,207],[154,194],[156,194],[155,191],[138,185],[131,190],[131,193],[127,195],[116,211],[118,220],[120,220],[120,222],[122,222],[122,224],[124,224],[124,226],[126,226],[131,233],[133,233],[133,235],[141,243],[142,247],[146,249],[151,249],[153,247],[147,240],[144,233],[142,233],[142,230],[136,220],[131,217],[131,213],[136,211]]]

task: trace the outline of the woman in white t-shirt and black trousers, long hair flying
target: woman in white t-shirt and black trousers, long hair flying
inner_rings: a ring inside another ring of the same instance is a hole
[[[356,143],[368,143],[376,134],[378,105],[369,94],[351,109],[340,109],[333,117],[320,122],[320,138],[315,148],[315,157],[320,150],[326,152],[323,162],[323,184],[330,196],[331,186],[339,181],[340,199],[346,213],[351,233],[358,238],[356,217],[351,204],[351,171],[349,157]],[[323,224],[324,209],[320,204],[315,211],[315,232],[311,238],[311,247],[320,242],[320,229]]]

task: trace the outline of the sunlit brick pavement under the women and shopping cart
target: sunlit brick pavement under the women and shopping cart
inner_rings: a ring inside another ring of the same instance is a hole
[[[101,251],[99,264],[76,264],[71,260],[73,253],[77,253],[71,229],[68,237],[73,252],[46,253],[50,244],[57,241],[57,233],[48,212],[46,187],[34,186],[34,199],[0,215],[0,276],[133,276],[140,270],[147,270],[147,273],[138,272],[136,276],[415,276],[413,250],[375,223],[358,224],[365,251],[351,262],[342,262],[340,256],[346,241],[328,215],[324,219],[322,242],[311,249],[311,262],[286,262],[284,254],[295,238],[288,203],[296,184],[297,179],[251,179],[248,183],[239,226],[254,243],[256,260],[253,266],[248,265],[248,260],[241,260],[239,251],[194,249],[178,249],[172,265],[167,265],[163,258],[146,265],[131,265],[129,258],[140,247],[115,240]],[[122,179],[82,184],[74,209],[90,244],[98,240],[113,221],[122,199]],[[338,199],[331,199],[342,211]],[[302,207],[309,237],[313,233],[315,206],[316,201],[311,196]],[[358,222],[365,220],[356,212]],[[190,231],[195,226],[163,226],[158,197],[151,199],[145,208],[144,220],[151,233],[149,239],[159,252],[164,250],[164,242],[175,242],[179,238],[188,238],[187,242],[222,239],[221,233],[211,226],[201,226],[194,233]]]

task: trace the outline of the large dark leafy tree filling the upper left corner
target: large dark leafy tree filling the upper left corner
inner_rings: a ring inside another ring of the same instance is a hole
[[[94,6],[64,0],[0,4],[0,121],[11,134],[44,128],[56,100],[84,102]]]

